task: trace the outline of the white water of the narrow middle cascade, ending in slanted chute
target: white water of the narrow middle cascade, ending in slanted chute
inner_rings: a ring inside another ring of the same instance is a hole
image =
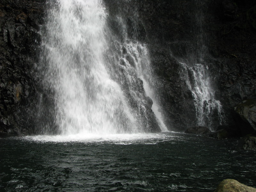
[[[135,11],[136,12],[136,11]],[[133,15],[133,21],[135,26],[138,21],[138,14]],[[121,26],[121,31],[124,39],[124,43],[121,44],[122,49],[125,50],[125,54],[121,54],[119,61],[124,62],[127,73],[130,73],[130,84],[132,84],[133,79],[131,70],[135,68],[136,76],[143,81],[143,89],[148,97],[153,101],[152,111],[156,115],[157,123],[162,131],[168,131],[166,125],[164,124],[164,118],[161,113],[161,107],[158,104],[159,98],[154,90],[157,87],[157,81],[154,76],[154,73],[151,71],[151,63],[148,55],[147,45],[141,44],[138,41],[132,41],[128,37],[127,26],[124,20],[121,17],[117,17],[118,24]],[[137,21],[137,22],[136,22]],[[136,30],[135,30],[136,31]],[[128,70],[127,70],[128,68]],[[129,72],[130,71],[130,72]],[[136,93],[133,90],[130,90],[132,96],[137,100],[140,100],[139,97],[136,97]],[[135,94],[135,95],[134,95]],[[141,103],[138,101],[138,103]]]

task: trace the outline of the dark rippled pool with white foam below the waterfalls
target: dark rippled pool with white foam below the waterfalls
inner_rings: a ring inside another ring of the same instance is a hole
[[[213,191],[256,187],[256,152],[181,133],[0,139],[0,191]]]

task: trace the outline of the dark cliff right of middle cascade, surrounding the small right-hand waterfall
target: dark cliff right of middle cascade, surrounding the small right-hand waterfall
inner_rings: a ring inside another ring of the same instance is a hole
[[[140,1],[139,4],[147,43],[151,44],[151,60],[163,82],[159,92],[163,93],[166,124],[170,130],[179,131],[196,125],[193,97],[179,74],[177,58],[197,54],[194,50],[200,49],[200,40],[195,39],[196,34],[201,33],[206,47],[202,51],[208,52],[204,59],[208,62],[215,99],[220,100],[225,114],[222,125],[234,127],[236,131],[237,116],[233,108],[243,100],[256,99],[256,31],[253,27],[256,3],[208,2],[209,9],[197,10],[204,15],[198,24],[197,13],[190,10],[196,2]]]

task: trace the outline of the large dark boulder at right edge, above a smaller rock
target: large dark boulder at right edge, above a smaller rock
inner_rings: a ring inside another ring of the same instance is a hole
[[[256,131],[256,100],[244,100],[235,107],[236,113],[244,121],[244,125],[248,127],[248,133]],[[242,128],[243,129],[243,128]]]

